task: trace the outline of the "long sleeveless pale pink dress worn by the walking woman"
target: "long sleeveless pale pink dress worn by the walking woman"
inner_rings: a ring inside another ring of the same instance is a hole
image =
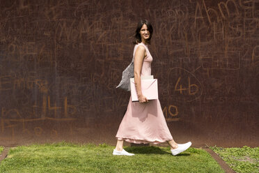
[[[147,53],[143,61],[141,76],[151,75],[152,56],[148,47],[143,43],[135,45],[133,56],[139,45],[143,45]],[[159,144],[173,140],[159,100],[149,100],[148,103],[132,103],[130,98],[127,112],[120,123],[116,138],[136,144]]]

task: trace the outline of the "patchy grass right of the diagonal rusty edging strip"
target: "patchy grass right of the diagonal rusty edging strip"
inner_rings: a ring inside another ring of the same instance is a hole
[[[259,172],[259,147],[221,148],[211,147],[235,172]]]

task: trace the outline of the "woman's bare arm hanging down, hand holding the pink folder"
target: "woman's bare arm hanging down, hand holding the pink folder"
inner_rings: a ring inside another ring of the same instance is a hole
[[[136,49],[135,52],[135,58],[134,58],[134,80],[136,85],[136,93],[139,97],[139,102],[148,102],[148,99],[143,96],[141,91],[141,70],[142,70],[142,64],[143,59],[145,58],[146,49],[142,45],[139,45],[139,47]]]

